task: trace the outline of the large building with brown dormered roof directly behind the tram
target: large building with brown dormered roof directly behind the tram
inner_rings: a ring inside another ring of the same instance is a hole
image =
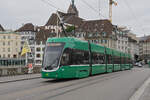
[[[109,20],[83,21],[76,37],[108,48],[116,48],[116,36]]]

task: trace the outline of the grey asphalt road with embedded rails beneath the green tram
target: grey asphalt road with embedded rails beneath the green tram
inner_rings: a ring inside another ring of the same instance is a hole
[[[149,68],[133,68],[84,79],[2,83],[0,100],[128,100],[149,77]]]

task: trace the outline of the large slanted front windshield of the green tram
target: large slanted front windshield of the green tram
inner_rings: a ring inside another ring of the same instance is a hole
[[[45,70],[53,70],[58,67],[63,47],[64,43],[47,43],[43,59]]]

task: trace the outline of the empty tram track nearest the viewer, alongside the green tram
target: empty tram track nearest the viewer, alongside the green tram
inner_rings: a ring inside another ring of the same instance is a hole
[[[103,81],[114,79],[114,78],[119,78],[119,76],[122,76],[123,73],[127,74],[126,72],[130,73],[130,70],[124,71],[124,72],[122,71],[122,72],[115,72],[115,73],[101,74],[101,75],[97,75],[97,76],[92,76],[92,77],[83,79],[83,81],[82,81],[82,79],[75,80],[75,81],[78,81],[78,82],[73,81],[73,83],[71,83],[69,85],[61,86],[61,87],[54,88],[54,89],[49,89],[49,90],[44,91],[44,92],[39,92],[39,93],[36,93],[36,94],[24,96],[24,97],[21,97],[21,98],[18,98],[18,99],[19,100],[27,100],[27,99],[28,100],[33,100],[33,98],[36,98],[39,95],[40,96],[45,95],[45,94],[50,95],[52,92],[54,92],[54,94],[51,95],[51,96],[45,96],[46,98],[44,98],[44,99],[41,98],[41,100],[52,99],[54,97],[57,97],[57,96],[60,96],[60,95],[66,94],[68,92],[75,91],[75,90],[78,90],[78,89],[81,89],[81,88],[84,88],[84,87],[87,87],[87,86],[90,86],[90,85],[94,85],[94,84],[97,84],[97,83],[102,83]],[[94,78],[94,77],[96,77],[96,78]],[[52,80],[51,82],[53,82],[53,81],[55,81],[55,80]],[[58,81],[58,83],[60,83],[60,82]],[[57,84],[57,83],[55,83],[55,84]],[[55,93],[55,92],[59,92],[59,93]]]

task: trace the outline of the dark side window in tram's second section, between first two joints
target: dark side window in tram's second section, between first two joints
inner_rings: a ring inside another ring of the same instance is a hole
[[[104,64],[105,62],[105,57],[104,54],[100,53],[92,53],[92,63],[93,64]]]

